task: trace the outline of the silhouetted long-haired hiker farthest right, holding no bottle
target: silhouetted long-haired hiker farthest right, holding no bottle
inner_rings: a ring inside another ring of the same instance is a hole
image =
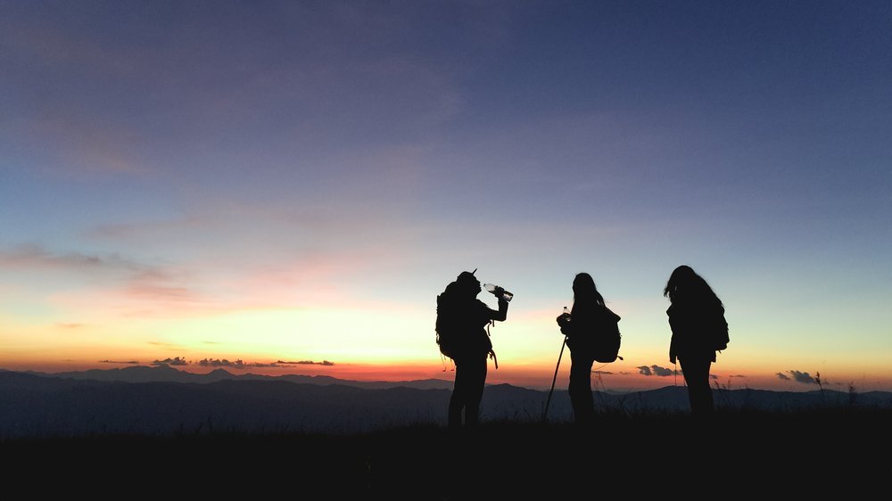
[[[712,415],[709,366],[715,361],[715,350],[728,345],[728,323],[722,301],[689,266],[675,268],[663,295],[672,303],[666,310],[672,327],[669,361],[674,364],[677,358],[681,363],[691,414]]]

